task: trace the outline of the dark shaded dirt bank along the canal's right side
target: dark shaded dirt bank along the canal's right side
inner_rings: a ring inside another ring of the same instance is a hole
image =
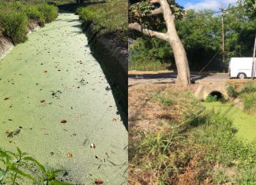
[[[93,23],[83,23],[82,26],[88,36],[88,44],[94,56],[100,61],[100,65],[115,92],[116,102],[122,106],[123,112],[126,114],[128,109],[128,47],[123,44],[118,33],[93,31],[95,30]]]

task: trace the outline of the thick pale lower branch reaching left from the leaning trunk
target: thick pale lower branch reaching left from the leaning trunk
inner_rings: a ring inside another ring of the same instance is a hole
[[[152,30],[149,30],[146,28],[142,28],[142,26],[138,23],[130,23],[128,28],[140,31],[141,33],[144,33],[145,35],[149,35],[151,37],[156,37],[158,39],[162,39],[162,40],[168,39],[168,36],[166,34],[160,33],[158,31],[152,31]]]

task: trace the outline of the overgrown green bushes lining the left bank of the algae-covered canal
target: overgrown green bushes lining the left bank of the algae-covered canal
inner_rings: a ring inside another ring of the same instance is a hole
[[[28,24],[35,21],[40,26],[58,17],[58,9],[36,1],[0,1],[0,32],[14,44],[27,39]]]

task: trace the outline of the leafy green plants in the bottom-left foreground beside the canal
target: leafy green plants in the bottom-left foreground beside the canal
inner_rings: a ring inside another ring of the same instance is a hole
[[[0,184],[69,185],[58,180],[63,172],[60,169],[45,168],[19,148],[14,153],[0,148]]]

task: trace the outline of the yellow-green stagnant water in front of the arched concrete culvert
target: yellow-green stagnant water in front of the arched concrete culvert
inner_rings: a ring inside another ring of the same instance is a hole
[[[203,102],[206,109],[215,109],[224,113],[226,117],[232,120],[234,128],[237,129],[236,135],[244,141],[256,141],[256,117],[244,113],[243,110],[231,103],[221,102]]]

